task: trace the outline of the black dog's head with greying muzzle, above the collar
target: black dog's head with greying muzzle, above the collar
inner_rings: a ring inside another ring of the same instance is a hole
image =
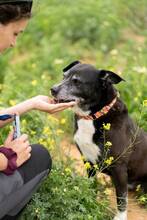
[[[123,79],[107,70],[75,61],[63,69],[63,80],[51,88],[56,102],[76,101],[75,111],[91,113],[101,109],[116,95],[113,84]]]

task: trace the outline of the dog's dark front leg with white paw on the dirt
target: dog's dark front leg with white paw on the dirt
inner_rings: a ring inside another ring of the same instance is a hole
[[[114,181],[117,197],[118,213],[114,220],[127,220],[127,168],[125,165],[116,165],[112,171],[112,179]]]

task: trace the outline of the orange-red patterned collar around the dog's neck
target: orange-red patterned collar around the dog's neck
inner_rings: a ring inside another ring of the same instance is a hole
[[[78,117],[81,119],[85,119],[85,120],[96,120],[96,119],[102,117],[103,115],[106,115],[110,111],[110,109],[116,103],[118,97],[119,97],[119,93],[117,93],[117,96],[112,100],[112,102],[110,104],[104,106],[100,111],[96,112],[95,114],[91,114],[91,115],[87,115],[87,116],[82,116],[82,115],[78,114]]]

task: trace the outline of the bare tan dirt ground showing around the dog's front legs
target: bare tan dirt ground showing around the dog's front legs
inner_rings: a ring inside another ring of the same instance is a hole
[[[81,175],[85,175],[85,169],[83,162],[81,161],[81,155],[75,145],[70,144],[68,141],[62,142],[63,157],[69,156],[75,159],[75,166]],[[107,177],[106,177],[107,178]],[[114,188],[110,188],[109,192],[110,204],[113,209],[116,208],[116,198]],[[141,208],[135,199],[134,193],[128,195],[128,220],[147,220],[147,210]]]

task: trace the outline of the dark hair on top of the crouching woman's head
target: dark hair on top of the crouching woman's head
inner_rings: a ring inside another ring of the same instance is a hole
[[[31,1],[0,4],[0,23],[5,25],[22,18],[30,18],[31,9]]]

